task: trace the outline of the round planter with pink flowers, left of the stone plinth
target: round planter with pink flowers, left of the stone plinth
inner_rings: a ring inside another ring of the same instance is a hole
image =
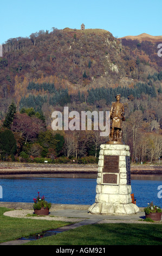
[[[48,215],[49,209],[51,208],[51,203],[48,203],[45,200],[45,197],[40,197],[40,192],[38,192],[38,196],[33,199],[34,200],[34,213],[37,215]]]

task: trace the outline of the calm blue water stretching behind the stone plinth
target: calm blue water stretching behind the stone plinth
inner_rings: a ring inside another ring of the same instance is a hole
[[[132,179],[131,185],[139,207],[144,207],[153,201],[162,208],[162,198],[158,198],[158,186],[162,186],[162,179]],[[51,203],[93,204],[96,194],[96,179],[0,177],[0,186],[3,191],[0,202],[33,203],[33,198],[36,198],[37,192],[40,192],[40,196],[44,195]],[[162,187],[160,190],[162,196]]]

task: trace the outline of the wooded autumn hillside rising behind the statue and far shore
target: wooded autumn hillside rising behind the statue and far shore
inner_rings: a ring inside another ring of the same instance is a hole
[[[54,132],[51,113],[63,112],[64,106],[69,111],[109,111],[115,95],[121,93],[126,112],[124,142],[131,147],[132,161],[136,157],[139,162],[158,160],[162,144],[158,44],[116,39],[102,29],[54,28],[51,33],[9,39],[0,58],[1,134],[11,131],[17,148],[13,144],[11,151],[4,150],[1,143],[2,159],[98,156],[107,138],[94,131]],[[16,112],[10,125],[4,126],[13,100]],[[40,136],[53,142],[44,145]]]

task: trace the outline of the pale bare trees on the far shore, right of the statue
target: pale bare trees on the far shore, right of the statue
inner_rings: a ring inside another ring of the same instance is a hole
[[[153,111],[154,102],[150,102],[149,107],[151,105],[150,109],[143,108],[143,112],[130,113],[124,124],[125,143],[130,147],[132,162],[157,161],[161,156],[161,128],[158,115]]]

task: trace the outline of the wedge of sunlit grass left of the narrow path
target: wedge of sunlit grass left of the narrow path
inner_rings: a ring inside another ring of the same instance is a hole
[[[41,233],[49,229],[55,229],[72,222],[32,220],[25,218],[13,218],[4,216],[10,209],[0,207],[0,243],[16,240],[20,237]]]

